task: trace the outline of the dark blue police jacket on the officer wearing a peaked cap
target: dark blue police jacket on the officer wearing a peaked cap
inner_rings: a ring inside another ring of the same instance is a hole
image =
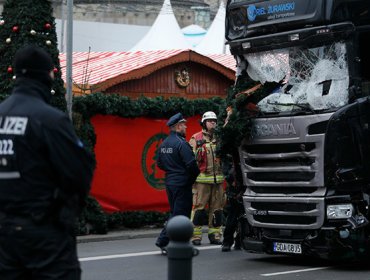
[[[159,146],[157,165],[166,172],[166,186],[191,186],[199,174],[189,143],[174,131]]]

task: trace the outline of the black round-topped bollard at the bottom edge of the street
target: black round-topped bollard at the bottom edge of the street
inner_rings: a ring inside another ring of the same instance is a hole
[[[199,251],[190,243],[193,224],[186,216],[175,216],[167,223],[168,280],[191,280],[192,258]]]

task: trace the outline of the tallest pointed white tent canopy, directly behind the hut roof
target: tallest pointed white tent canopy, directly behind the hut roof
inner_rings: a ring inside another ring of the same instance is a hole
[[[162,9],[148,33],[130,51],[190,49],[173,14],[170,0]]]

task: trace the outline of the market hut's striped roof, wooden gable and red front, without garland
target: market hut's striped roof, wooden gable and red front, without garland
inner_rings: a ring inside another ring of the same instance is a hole
[[[64,70],[65,55],[60,60]],[[225,97],[234,83],[234,65],[231,55],[191,50],[74,53],[73,89],[75,95],[102,92],[131,98]],[[154,162],[157,144],[168,131],[167,119],[97,112],[89,117],[97,161],[91,195],[108,212],[168,211],[163,173]],[[199,118],[187,116],[189,135],[199,131]]]

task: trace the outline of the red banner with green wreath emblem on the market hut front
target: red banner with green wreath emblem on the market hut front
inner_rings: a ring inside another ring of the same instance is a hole
[[[187,140],[199,131],[200,116],[188,119]],[[167,137],[167,120],[94,116],[95,170],[91,194],[107,212],[168,211],[164,173],[156,149]]]

